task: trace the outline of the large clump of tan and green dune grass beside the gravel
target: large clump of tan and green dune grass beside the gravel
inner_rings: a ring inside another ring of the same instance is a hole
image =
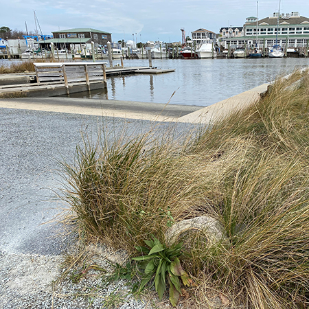
[[[309,79],[295,71],[264,98],[181,139],[146,133],[85,139],[64,163],[63,198],[80,235],[136,254],[179,220],[207,214],[226,240],[194,242],[181,258],[196,286],[244,308],[308,308]]]

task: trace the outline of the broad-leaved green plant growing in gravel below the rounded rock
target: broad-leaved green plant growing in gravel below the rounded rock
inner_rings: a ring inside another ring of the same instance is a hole
[[[185,286],[189,286],[191,279],[183,271],[179,261],[182,243],[175,244],[168,248],[165,244],[153,237],[153,240],[144,240],[148,247],[137,247],[137,250],[145,255],[133,258],[144,269],[140,290],[143,290],[154,278],[155,288],[161,300],[166,290],[166,280],[170,285],[170,303],[176,306],[181,295],[181,280]],[[180,280],[181,279],[181,280]]]

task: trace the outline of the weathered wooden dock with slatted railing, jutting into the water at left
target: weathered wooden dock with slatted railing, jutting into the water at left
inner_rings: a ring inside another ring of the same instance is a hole
[[[0,85],[0,98],[50,97],[106,88],[106,78],[136,73],[167,73],[151,67],[110,67],[106,62],[35,62],[35,82]]]

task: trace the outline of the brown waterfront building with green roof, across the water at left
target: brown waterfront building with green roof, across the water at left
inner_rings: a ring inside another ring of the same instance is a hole
[[[111,42],[111,33],[92,28],[73,28],[52,32],[53,38],[40,41],[41,47],[49,49],[50,43],[54,43],[55,48],[67,49],[71,52],[91,50],[91,42],[95,48],[103,47],[107,42]]]

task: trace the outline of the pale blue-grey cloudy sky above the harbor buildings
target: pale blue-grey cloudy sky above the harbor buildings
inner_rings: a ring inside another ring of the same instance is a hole
[[[43,34],[77,27],[110,32],[113,41],[181,41],[198,28],[218,33],[220,27],[242,26],[256,16],[255,0],[0,0],[0,27],[35,31],[34,10]],[[258,3],[258,17],[279,9],[279,0]],[[282,0],[280,12],[309,17],[308,0]]]

